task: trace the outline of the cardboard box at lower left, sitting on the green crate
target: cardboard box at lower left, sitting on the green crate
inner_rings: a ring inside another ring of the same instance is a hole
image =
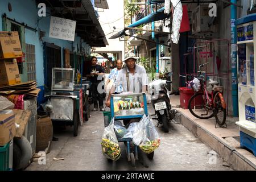
[[[0,114],[0,146],[10,142],[15,135],[15,114]]]

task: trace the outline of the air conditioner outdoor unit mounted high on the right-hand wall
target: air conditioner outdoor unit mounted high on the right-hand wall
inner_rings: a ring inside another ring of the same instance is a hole
[[[213,17],[209,16],[208,5],[199,5],[192,11],[192,35],[214,32],[213,24],[210,24]]]

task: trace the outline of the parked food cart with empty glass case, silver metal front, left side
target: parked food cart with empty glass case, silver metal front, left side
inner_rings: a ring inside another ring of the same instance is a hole
[[[79,91],[74,90],[75,69],[52,68],[52,89],[46,93],[52,105],[50,118],[55,123],[73,125],[74,137],[79,127]]]

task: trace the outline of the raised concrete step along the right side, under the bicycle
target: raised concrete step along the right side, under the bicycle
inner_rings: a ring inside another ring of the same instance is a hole
[[[255,156],[240,147],[239,128],[234,121],[227,121],[227,128],[216,129],[215,118],[197,119],[189,110],[179,108],[177,111],[181,114],[181,124],[216,151],[231,168],[239,171],[254,171],[256,169]]]

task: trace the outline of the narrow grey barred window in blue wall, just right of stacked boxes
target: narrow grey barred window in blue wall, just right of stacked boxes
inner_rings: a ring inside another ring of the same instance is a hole
[[[35,46],[26,44],[27,81],[36,80]]]

